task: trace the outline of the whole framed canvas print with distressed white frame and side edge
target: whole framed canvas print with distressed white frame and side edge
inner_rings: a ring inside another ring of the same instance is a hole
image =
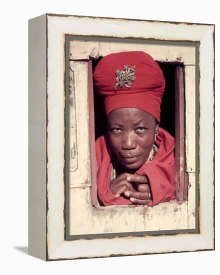
[[[30,19],[29,254],[214,249],[213,105],[214,25]]]

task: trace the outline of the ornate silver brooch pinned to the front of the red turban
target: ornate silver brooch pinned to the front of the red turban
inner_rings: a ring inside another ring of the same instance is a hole
[[[118,86],[121,88],[123,86],[130,88],[132,85],[131,81],[134,81],[136,79],[136,77],[134,76],[135,72],[135,65],[124,65],[123,70],[116,69],[115,73],[117,77],[114,89],[117,90]]]

